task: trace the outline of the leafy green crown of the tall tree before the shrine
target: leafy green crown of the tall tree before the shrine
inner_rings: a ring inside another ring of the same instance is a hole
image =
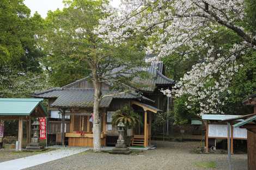
[[[44,32],[39,35],[40,46],[46,53],[42,62],[51,83],[62,86],[87,77],[93,70],[99,80],[110,81],[113,86],[131,80],[110,73],[115,68],[124,68],[118,72],[124,75],[130,68],[143,65],[142,40],[136,37],[118,48],[109,45],[94,34],[99,19],[106,15],[100,10],[102,1],[64,2],[67,8],[48,12]]]

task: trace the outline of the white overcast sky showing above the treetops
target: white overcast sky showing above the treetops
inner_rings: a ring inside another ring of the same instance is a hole
[[[25,0],[24,3],[29,9],[31,9],[31,15],[38,11],[41,17],[45,18],[49,10],[56,10],[57,8],[62,9],[64,4],[63,0]],[[120,0],[112,0],[111,4],[113,7],[118,7]]]

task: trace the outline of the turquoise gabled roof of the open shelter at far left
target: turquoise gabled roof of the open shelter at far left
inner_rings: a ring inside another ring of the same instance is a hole
[[[40,98],[0,98],[0,116],[29,116],[36,107],[42,109],[46,116],[47,112]]]

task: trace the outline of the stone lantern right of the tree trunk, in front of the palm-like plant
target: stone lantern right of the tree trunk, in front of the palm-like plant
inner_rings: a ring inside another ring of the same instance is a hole
[[[129,148],[127,148],[125,139],[124,139],[125,125],[123,122],[119,122],[117,127],[118,127],[119,136],[118,136],[117,144],[115,144],[115,147],[112,149],[112,153],[113,154],[130,154],[131,151],[129,150]]]

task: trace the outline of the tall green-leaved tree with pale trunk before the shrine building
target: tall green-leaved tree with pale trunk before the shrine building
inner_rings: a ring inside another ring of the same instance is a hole
[[[126,92],[121,84],[128,82],[143,65],[144,54],[139,39],[124,41],[119,47],[108,45],[94,33],[100,18],[106,16],[101,11],[102,1],[64,1],[67,8],[49,12],[46,30],[41,37],[41,47],[51,61],[68,62],[68,65],[83,68],[90,72],[94,86],[93,142],[94,151],[100,151],[100,102],[102,98],[117,95],[102,95],[101,84],[108,83],[120,93]],[[47,67],[54,69],[54,63]],[[64,67],[65,65],[63,65]],[[88,72],[85,71],[84,75]],[[120,83],[121,82],[121,83]]]

